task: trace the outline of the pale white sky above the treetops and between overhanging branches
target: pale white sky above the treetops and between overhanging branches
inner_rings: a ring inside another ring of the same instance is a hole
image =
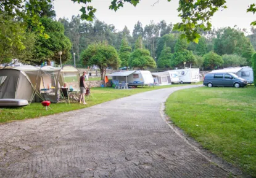
[[[178,23],[181,21],[178,17],[178,0],[142,0],[134,7],[131,4],[125,3],[125,6],[114,12],[109,10],[111,0],[93,0],[91,3],[94,8],[97,9],[95,13],[96,18],[104,21],[107,24],[113,24],[116,29],[122,31],[125,25],[133,31],[134,25],[137,21],[141,21],[143,26],[154,20],[155,23],[159,23],[161,20],[165,20],[169,23]],[[215,28],[221,28],[225,26],[238,28],[246,28],[250,32],[250,23],[256,20],[256,14],[251,12],[247,13],[246,9],[250,4],[253,4],[255,0],[226,0],[228,9],[219,10],[212,18],[212,26]],[[154,6],[152,6],[154,4]],[[71,0],[55,0],[54,10],[56,10],[57,19],[66,17],[70,19],[72,15],[81,14],[80,4],[74,4]]]

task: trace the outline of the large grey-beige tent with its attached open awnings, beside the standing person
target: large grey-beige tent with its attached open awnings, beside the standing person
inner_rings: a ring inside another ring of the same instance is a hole
[[[0,99],[27,99],[37,102],[49,100],[57,103],[60,97],[60,85],[68,82],[73,88],[78,88],[78,79],[78,69],[72,66],[66,66],[63,69],[52,66],[42,68],[19,66],[13,69],[2,69],[0,70]]]

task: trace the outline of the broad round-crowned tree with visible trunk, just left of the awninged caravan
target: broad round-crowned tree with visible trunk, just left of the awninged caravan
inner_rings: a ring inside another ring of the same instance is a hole
[[[96,65],[101,70],[102,80],[108,67],[117,69],[121,63],[117,50],[106,42],[89,45],[81,53],[81,60],[88,66]]]

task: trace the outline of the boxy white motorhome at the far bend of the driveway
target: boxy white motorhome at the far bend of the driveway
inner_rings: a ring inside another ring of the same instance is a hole
[[[171,70],[171,72],[177,72],[180,78],[180,83],[197,83],[200,82],[199,69],[185,68]]]

